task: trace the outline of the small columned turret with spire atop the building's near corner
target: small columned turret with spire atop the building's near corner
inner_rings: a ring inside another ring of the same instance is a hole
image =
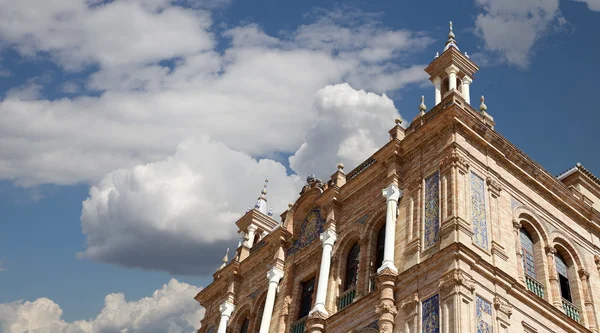
[[[469,59],[467,53],[462,54],[458,49],[451,21],[444,52],[439,56],[436,55],[431,64],[425,68],[435,88],[435,105],[438,105],[453,90],[460,93],[467,104],[471,104],[469,87],[478,70],[479,66]]]

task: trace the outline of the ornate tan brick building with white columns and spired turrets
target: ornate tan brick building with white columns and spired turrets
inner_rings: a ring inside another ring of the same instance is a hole
[[[598,332],[600,180],[555,177],[494,130],[452,33],[435,105],[349,173],[314,176],[281,222],[237,221],[196,300],[201,333]]]

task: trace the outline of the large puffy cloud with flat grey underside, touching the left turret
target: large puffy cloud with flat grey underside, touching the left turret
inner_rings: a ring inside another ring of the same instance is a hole
[[[86,250],[79,257],[211,274],[265,178],[272,185],[268,205],[282,212],[301,188],[297,176],[206,137],[181,144],[166,160],[111,172],[83,203]]]

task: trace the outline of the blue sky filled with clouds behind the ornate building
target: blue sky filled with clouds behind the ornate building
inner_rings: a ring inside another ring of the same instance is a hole
[[[449,20],[496,130],[552,174],[599,174],[587,1],[0,1],[0,327],[153,332],[99,314],[163,288],[197,328],[189,295],[263,180],[277,216],[432,106]],[[15,319],[34,311],[51,319]]]

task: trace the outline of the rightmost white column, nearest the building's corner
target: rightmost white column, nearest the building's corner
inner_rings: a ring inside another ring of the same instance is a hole
[[[402,191],[398,186],[390,184],[383,190],[383,196],[387,200],[387,211],[385,215],[385,246],[383,248],[383,263],[377,269],[377,273],[389,268],[393,272],[398,273],[398,269],[394,264],[394,246],[396,244],[396,215],[398,209],[398,199],[402,195]]]

